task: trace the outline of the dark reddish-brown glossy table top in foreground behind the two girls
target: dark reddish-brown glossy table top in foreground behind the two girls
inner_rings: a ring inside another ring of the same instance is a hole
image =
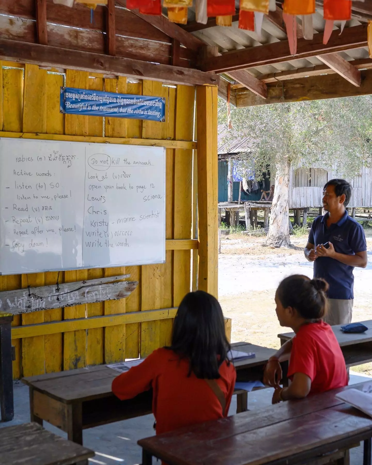
[[[298,454],[287,462],[296,463],[301,454],[319,446],[331,452],[347,437],[372,436],[372,419],[335,399],[339,391],[182,428],[138,444],[171,465],[262,465]]]

